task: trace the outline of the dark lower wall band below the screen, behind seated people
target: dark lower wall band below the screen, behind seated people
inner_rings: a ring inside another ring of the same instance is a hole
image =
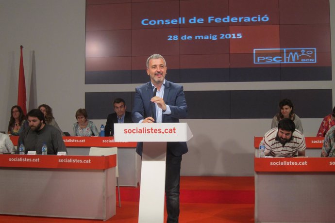
[[[112,89],[111,89],[112,90]],[[85,93],[89,119],[106,119],[113,111],[113,100],[126,100],[132,110],[134,92]],[[185,91],[188,119],[272,118],[278,103],[289,98],[301,118],[323,118],[333,110],[332,89]]]

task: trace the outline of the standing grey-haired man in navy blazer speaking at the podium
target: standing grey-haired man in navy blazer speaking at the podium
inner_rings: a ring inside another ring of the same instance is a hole
[[[176,123],[186,118],[187,105],[183,86],[165,80],[167,66],[163,56],[151,55],[147,60],[150,82],[135,89],[132,117],[134,123]],[[136,152],[142,156],[143,143],[137,143]],[[168,223],[178,223],[179,182],[182,155],[188,151],[186,142],[168,142],[165,192]]]

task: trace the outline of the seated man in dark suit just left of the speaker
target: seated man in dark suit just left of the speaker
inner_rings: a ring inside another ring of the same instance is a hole
[[[113,102],[114,113],[109,114],[105,126],[105,136],[114,136],[114,123],[133,123],[132,112],[127,112],[126,102],[117,98]]]

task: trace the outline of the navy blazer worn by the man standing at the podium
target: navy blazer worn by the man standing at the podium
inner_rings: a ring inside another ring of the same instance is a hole
[[[135,97],[133,104],[133,122],[138,123],[140,120],[151,116],[154,103],[150,100],[153,97],[151,82],[143,84],[135,89]],[[171,114],[162,114],[163,123],[178,123],[180,118],[186,118],[188,114],[186,99],[183,86],[165,81],[164,102],[170,107]],[[156,114],[153,112],[152,118],[156,120]],[[150,124],[148,124],[150,125]],[[142,155],[143,143],[137,143],[136,152]],[[188,151],[186,142],[168,142],[167,150],[174,156],[181,156]]]

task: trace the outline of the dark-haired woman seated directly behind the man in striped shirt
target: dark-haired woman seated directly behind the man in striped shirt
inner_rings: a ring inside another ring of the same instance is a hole
[[[294,105],[290,99],[283,99],[279,102],[279,112],[273,117],[271,128],[278,127],[278,122],[283,118],[292,119],[296,125],[296,129],[303,133],[302,124],[299,116],[294,113]]]

